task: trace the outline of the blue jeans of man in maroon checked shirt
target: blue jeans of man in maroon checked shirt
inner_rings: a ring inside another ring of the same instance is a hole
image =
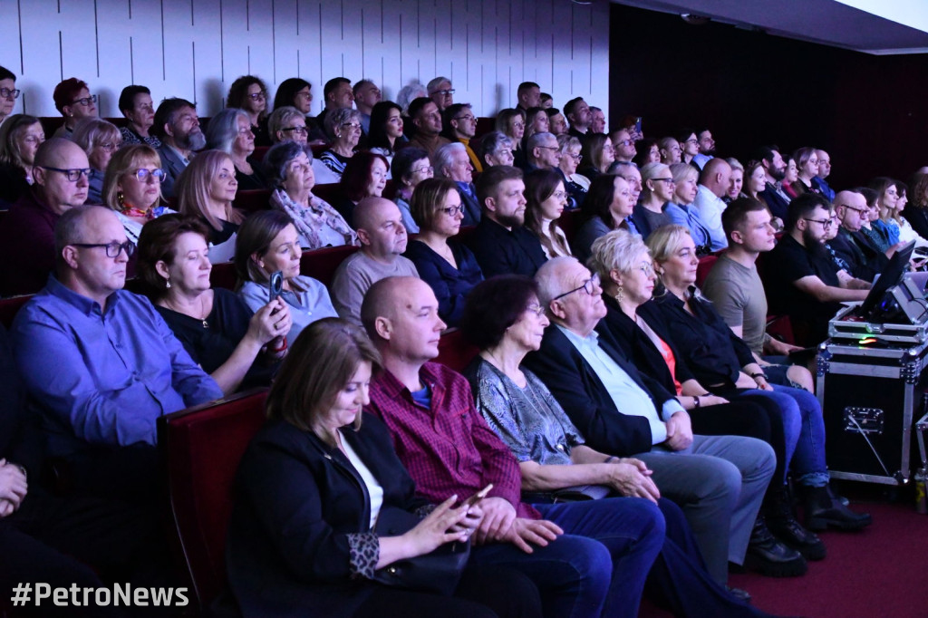
[[[538,586],[548,618],[638,615],[645,580],[664,545],[664,516],[644,498],[536,505],[564,534],[531,554],[510,544],[473,547],[472,564],[500,564]]]

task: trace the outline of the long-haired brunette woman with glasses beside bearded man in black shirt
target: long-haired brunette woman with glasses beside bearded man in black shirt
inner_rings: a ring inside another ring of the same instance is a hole
[[[545,257],[572,255],[558,219],[567,208],[567,191],[563,176],[550,168],[525,174],[525,227],[538,241]]]

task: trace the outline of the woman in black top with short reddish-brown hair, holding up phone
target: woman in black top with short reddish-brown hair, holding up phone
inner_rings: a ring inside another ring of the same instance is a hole
[[[148,298],[193,361],[223,393],[269,386],[287,351],[290,310],[279,299],[251,309],[230,290],[210,288],[206,225],[166,214],[142,230],[138,273]]]

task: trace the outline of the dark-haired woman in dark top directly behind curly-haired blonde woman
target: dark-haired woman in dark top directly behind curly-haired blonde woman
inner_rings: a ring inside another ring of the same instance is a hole
[[[574,257],[586,264],[593,241],[613,229],[627,229],[637,234],[637,228],[629,219],[634,207],[625,178],[612,174],[594,178],[583,203],[586,222],[574,234]]]

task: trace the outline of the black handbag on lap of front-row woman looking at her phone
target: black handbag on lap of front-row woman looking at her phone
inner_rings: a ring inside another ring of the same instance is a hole
[[[374,532],[378,536],[399,536],[419,524],[419,516],[402,509],[380,511]],[[458,587],[461,573],[470,558],[470,540],[445,543],[432,552],[396,560],[374,572],[374,581],[386,586],[432,592],[450,597]]]

